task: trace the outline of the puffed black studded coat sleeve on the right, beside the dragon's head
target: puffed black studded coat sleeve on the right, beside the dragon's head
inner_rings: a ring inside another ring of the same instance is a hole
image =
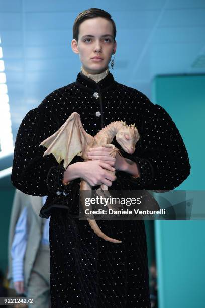
[[[172,190],[190,174],[190,164],[182,137],[165,109],[149,101],[133,155],[140,178],[130,177],[133,189]]]

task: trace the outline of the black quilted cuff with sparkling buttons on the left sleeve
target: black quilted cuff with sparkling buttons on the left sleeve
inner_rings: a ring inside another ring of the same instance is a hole
[[[72,181],[67,185],[63,184],[64,171],[65,169],[62,165],[51,167],[46,178],[48,189],[58,196],[67,196],[70,192],[70,184]]]

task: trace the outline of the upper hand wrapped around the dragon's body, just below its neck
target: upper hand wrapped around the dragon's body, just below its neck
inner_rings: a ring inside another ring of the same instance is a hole
[[[112,149],[108,147],[92,147],[87,152],[87,155],[92,161],[100,160],[113,166],[116,170],[125,170],[127,164],[125,158],[120,156],[118,152],[116,152],[116,157],[109,156],[111,150]]]

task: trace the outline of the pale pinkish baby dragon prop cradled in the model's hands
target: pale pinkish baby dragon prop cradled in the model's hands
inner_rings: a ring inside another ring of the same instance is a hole
[[[77,155],[81,156],[84,161],[88,161],[87,152],[91,147],[105,146],[111,148],[110,156],[115,157],[118,149],[111,144],[114,137],[121,145],[125,152],[132,154],[135,151],[135,145],[140,136],[135,124],[127,125],[123,121],[115,121],[100,130],[94,137],[89,135],[83,128],[80,115],[73,112],[66,122],[50,137],[41,142],[47,148],[44,155],[53,154],[60,164],[64,160],[63,167],[66,169],[72,159]],[[115,171],[108,171],[115,175]],[[102,190],[108,190],[104,184]],[[81,179],[80,190],[90,191],[92,187]],[[105,235],[98,227],[95,220],[88,219],[88,222],[99,237],[112,243],[122,243],[122,241],[112,239]]]

